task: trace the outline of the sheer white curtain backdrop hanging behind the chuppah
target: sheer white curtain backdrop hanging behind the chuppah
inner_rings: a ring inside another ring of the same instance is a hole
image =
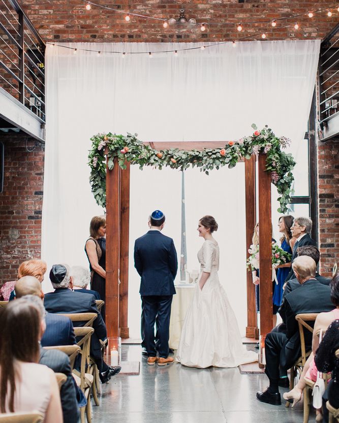
[[[199,44],[65,44],[46,50],[47,125],[42,258],[87,266],[84,243],[90,218],[103,214],[90,192],[89,138],[97,133],[138,133],[144,141],[233,140],[266,123],[298,146],[314,90],[320,40],[265,41],[213,46]],[[100,50],[80,51],[79,48]],[[106,51],[173,53],[122,55]],[[293,147],[298,152],[298,147]],[[303,160],[303,155],[297,159]],[[188,268],[197,268],[201,242],[195,232],[202,214],[215,214],[221,248],[221,281],[239,321],[246,326],[243,164],[186,178]],[[180,174],[132,167],[130,219],[130,312],[139,336],[139,278],[133,245],[147,230],[153,209],[167,215],[165,233],[180,253]],[[273,203],[275,210],[277,204]],[[275,217],[274,217],[275,218]],[[273,222],[275,225],[275,222]],[[46,278],[47,279],[47,278]],[[44,282],[44,289],[51,289]]]

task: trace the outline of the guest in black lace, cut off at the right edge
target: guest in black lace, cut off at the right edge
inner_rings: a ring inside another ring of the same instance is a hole
[[[332,407],[339,408],[339,359],[335,351],[339,348],[339,320],[334,320],[328,327],[315,356],[315,363],[320,372],[332,372],[323,400]],[[328,421],[328,411],[323,404],[324,420]]]

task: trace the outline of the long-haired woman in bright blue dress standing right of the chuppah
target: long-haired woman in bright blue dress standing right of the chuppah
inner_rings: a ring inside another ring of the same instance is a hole
[[[284,251],[287,251],[290,254],[292,254],[293,245],[296,241],[296,239],[292,237],[291,233],[291,226],[293,225],[293,220],[293,216],[287,215],[282,216],[279,219],[278,223],[279,232],[283,234],[282,238],[280,239],[281,247]],[[276,279],[278,280],[278,285],[274,283],[273,307],[280,307],[282,303],[284,283],[287,275],[289,274],[290,267],[291,262],[288,262],[278,266],[278,268],[276,269]]]

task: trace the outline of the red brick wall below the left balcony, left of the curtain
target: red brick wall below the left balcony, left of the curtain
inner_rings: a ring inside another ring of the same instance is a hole
[[[40,258],[44,148],[27,152],[26,137],[0,133],[5,145],[4,190],[0,193],[0,284],[16,278],[27,258]],[[28,149],[34,141],[27,141]]]

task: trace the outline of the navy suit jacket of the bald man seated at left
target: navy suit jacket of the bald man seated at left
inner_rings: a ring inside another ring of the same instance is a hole
[[[76,344],[72,320],[66,316],[46,313],[46,331],[41,338],[42,347]]]

